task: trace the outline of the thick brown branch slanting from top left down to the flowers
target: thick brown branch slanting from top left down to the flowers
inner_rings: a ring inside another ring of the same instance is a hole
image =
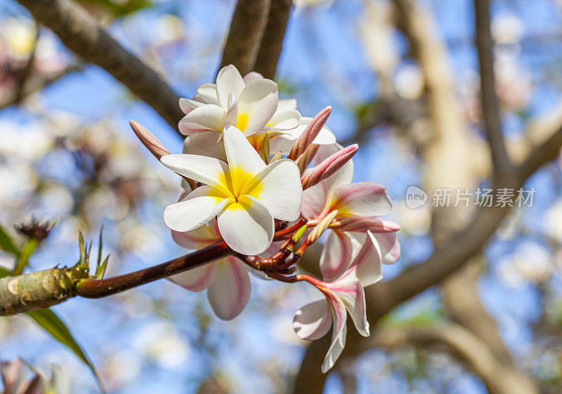
[[[18,0],[60,41],[87,62],[123,83],[171,125],[177,133],[183,116],[179,97],[154,70],[125,50],[83,8],[70,0]]]

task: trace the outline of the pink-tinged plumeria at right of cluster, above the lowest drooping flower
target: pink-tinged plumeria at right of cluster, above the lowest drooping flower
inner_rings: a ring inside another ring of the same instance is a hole
[[[337,144],[321,147],[314,162],[322,161],[338,149],[341,147]],[[375,217],[392,210],[386,189],[372,182],[351,183],[352,179],[353,162],[349,161],[333,175],[303,192],[301,212],[304,217],[313,220],[338,210],[336,222],[347,223],[330,233],[320,257],[320,271],[327,280],[334,280],[344,273],[365,243],[373,244],[371,258],[384,264],[393,264],[400,257],[400,243],[396,236],[400,226]],[[354,222],[366,225],[354,227]],[[346,231],[346,227],[351,230]]]

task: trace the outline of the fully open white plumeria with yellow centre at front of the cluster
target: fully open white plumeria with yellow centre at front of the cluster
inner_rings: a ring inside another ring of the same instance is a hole
[[[164,211],[174,231],[191,231],[218,219],[227,245],[242,254],[259,254],[273,240],[274,221],[299,218],[302,186],[294,161],[266,165],[242,132],[230,126],[224,133],[228,164],[217,158],[169,154],[166,167],[206,186],[200,186]]]

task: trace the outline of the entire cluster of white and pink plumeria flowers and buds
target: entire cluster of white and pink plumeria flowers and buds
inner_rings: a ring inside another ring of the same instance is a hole
[[[318,339],[332,327],[327,372],[346,341],[346,318],[369,335],[364,287],[382,278],[381,264],[400,256],[400,227],[378,215],[392,204],[380,184],[353,183],[352,156],[325,126],[331,108],[306,118],[295,100],[279,100],[277,84],[232,65],[218,72],[192,99],[180,100],[183,154],[171,154],[136,122],[141,142],[167,168],[183,177],[178,202],[164,222],[178,245],[190,250],[226,243],[230,255],[171,280],[188,290],[207,290],[209,304],[224,320],[247,304],[250,276],[286,283],[306,281],[324,298],[303,306],[294,330]],[[296,264],[322,233],[322,279],[296,274]],[[224,244],[223,244],[224,245]]]

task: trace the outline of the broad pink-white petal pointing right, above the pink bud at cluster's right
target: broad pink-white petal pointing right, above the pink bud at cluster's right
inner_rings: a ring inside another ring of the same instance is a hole
[[[372,182],[343,184],[336,187],[333,195],[339,215],[386,215],[392,210],[391,199],[384,186]]]

